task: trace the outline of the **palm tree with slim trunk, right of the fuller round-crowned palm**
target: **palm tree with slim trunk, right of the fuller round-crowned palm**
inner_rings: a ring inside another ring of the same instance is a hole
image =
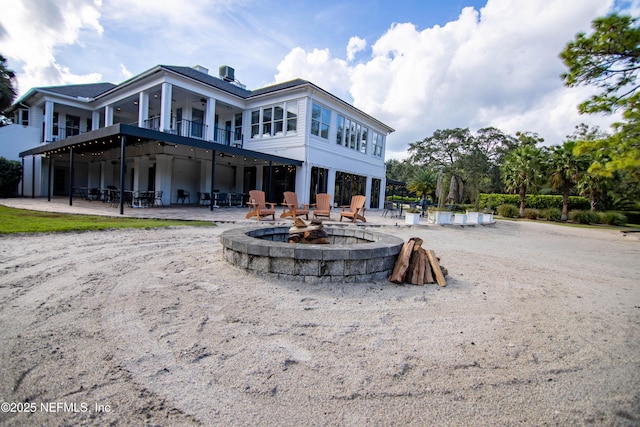
[[[576,141],[569,140],[562,145],[551,147],[551,188],[562,188],[562,216],[566,221],[569,212],[569,192],[578,184],[580,177],[587,170],[589,164],[584,156],[575,156]]]

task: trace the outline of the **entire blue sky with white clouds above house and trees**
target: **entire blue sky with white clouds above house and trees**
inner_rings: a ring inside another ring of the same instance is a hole
[[[559,52],[640,0],[19,0],[0,54],[20,93],[119,83],[157,64],[235,68],[249,89],[304,78],[390,125],[387,157],[437,129],[486,126],[561,143],[590,88],[568,89]]]

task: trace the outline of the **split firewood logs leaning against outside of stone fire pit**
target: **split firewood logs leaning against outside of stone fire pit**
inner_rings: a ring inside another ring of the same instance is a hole
[[[422,243],[421,238],[412,237],[404,244],[389,277],[390,282],[406,282],[412,285],[438,283],[440,286],[447,286],[444,278],[447,275],[447,269],[440,265],[435,252],[424,249]]]

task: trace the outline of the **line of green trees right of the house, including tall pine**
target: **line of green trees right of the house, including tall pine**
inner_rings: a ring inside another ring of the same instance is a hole
[[[520,196],[561,194],[562,219],[570,195],[588,197],[592,210],[624,209],[640,200],[640,28],[637,19],[596,18],[590,35],[578,33],[560,53],[568,87],[591,85],[600,93],[578,106],[582,114],[613,114],[612,132],[585,124],[562,144],[545,146],[534,132],[507,135],[487,127],[436,130],[409,144],[406,160],[389,160],[387,178],[403,181],[434,204],[475,204],[480,193]],[[637,206],[636,206],[637,207]]]

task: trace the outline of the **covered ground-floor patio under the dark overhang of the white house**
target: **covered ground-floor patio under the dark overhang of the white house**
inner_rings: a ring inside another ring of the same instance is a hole
[[[154,199],[160,195],[159,203],[154,200],[146,206],[204,202],[213,210],[219,206],[221,194],[228,205],[234,195],[235,204],[242,206],[244,195],[256,188],[265,191],[269,200],[280,201],[283,191],[295,189],[295,173],[302,166],[299,160],[228,142],[208,142],[126,124],[54,141],[24,151],[20,157],[23,166],[29,157],[34,165],[42,162],[48,201],[65,195],[73,206],[74,200],[94,196],[95,191],[105,201],[105,192],[111,188],[117,195],[120,215],[127,204],[134,204],[135,194],[146,193],[149,198],[150,192]],[[23,177],[23,186],[25,182],[35,186],[38,181],[36,168],[31,170],[33,176]],[[31,194],[36,194],[35,188]]]

